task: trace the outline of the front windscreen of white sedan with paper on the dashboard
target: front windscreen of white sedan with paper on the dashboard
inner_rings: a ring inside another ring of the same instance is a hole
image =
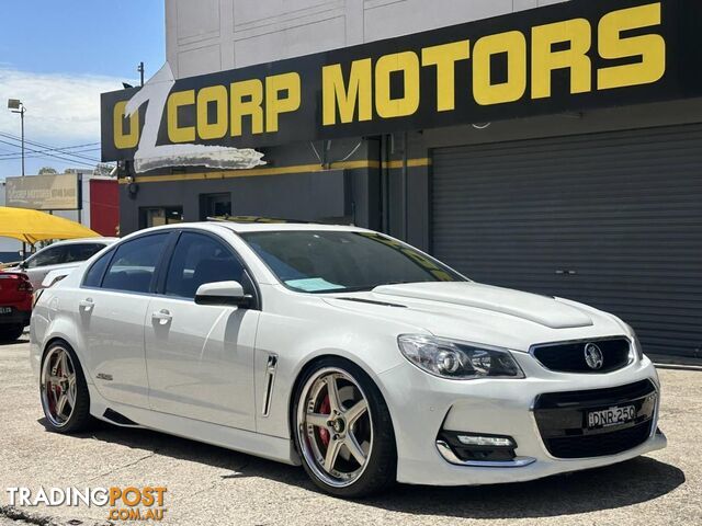
[[[285,286],[303,293],[466,281],[416,249],[375,232],[265,231],[241,237]]]

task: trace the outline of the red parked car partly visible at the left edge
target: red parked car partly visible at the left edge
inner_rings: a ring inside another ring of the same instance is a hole
[[[0,342],[18,340],[30,324],[32,293],[26,274],[0,272]]]

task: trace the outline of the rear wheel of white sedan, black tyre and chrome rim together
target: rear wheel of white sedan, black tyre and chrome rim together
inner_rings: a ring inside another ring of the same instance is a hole
[[[49,345],[42,361],[42,408],[50,431],[80,433],[90,424],[90,393],[78,356],[64,342]]]

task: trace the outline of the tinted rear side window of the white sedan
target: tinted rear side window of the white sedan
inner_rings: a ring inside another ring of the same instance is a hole
[[[105,273],[102,288],[149,293],[155,284],[157,265],[166,250],[168,236],[157,233],[122,243]]]

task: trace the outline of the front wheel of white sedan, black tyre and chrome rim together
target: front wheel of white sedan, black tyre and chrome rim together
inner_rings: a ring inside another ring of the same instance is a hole
[[[395,483],[390,414],[360,367],[339,358],[319,361],[302,378],[293,411],[297,450],[318,488],[359,499]]]

